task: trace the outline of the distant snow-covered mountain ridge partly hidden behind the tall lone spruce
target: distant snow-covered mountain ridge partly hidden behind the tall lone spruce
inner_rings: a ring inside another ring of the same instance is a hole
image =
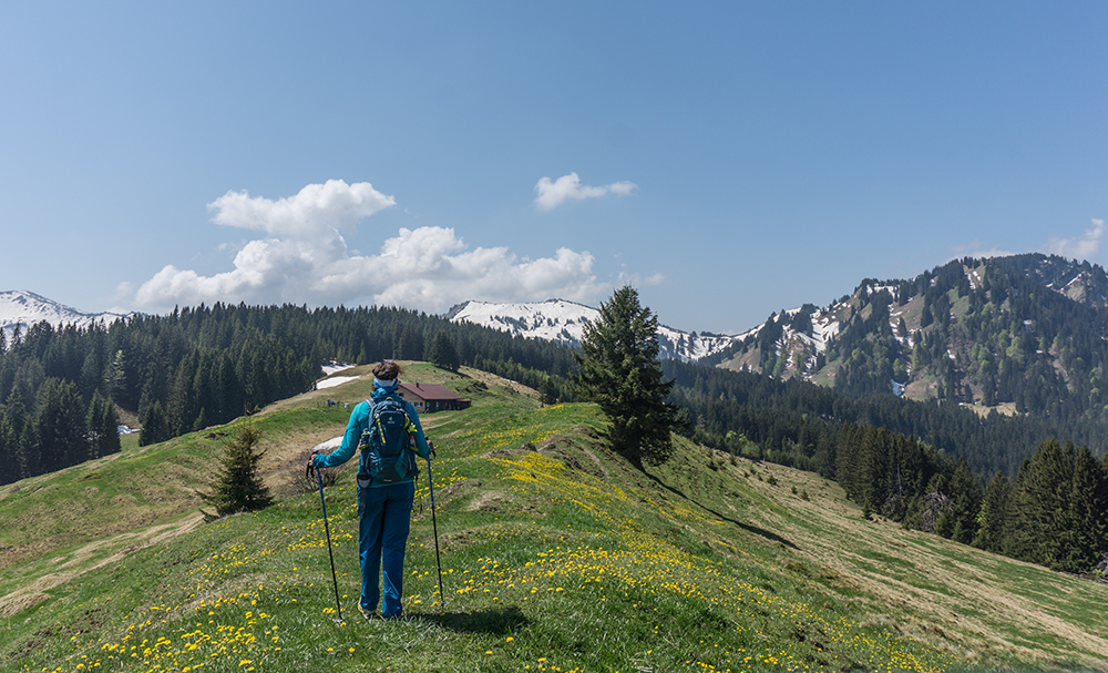
[[[585,325],[595,320],[599,312],[591,306],[547,299],[531,304],[491,304],[465,302],[447,313],[447,319],[466,322],[501,329],[525,337],[535,337],[567,345],[579,344]],[[716,355],[731,345],[733,337],[716,334],[681,332],[664,325],[658,327],[661,358],[698,360]]]

